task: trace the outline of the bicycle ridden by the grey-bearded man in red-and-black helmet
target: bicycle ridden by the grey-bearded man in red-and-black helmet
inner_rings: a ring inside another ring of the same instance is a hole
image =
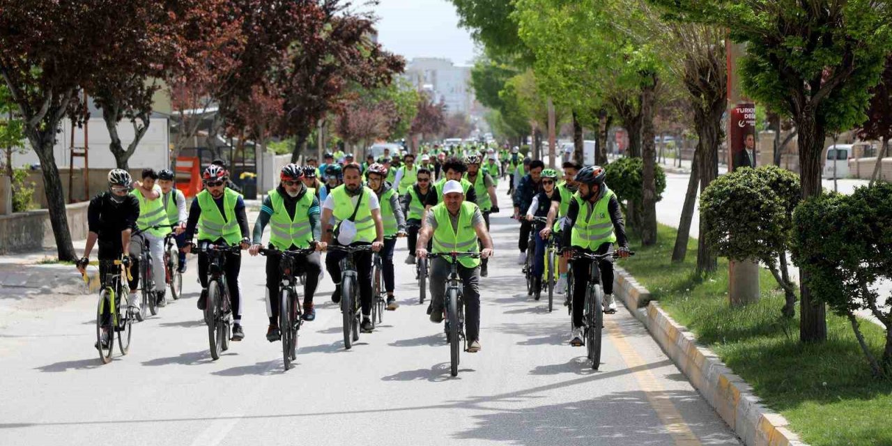
[[[301,299],[297,293],[298,275],[301,270],[299,258],[316,251],[315,244],[308,249],[279,251],[277,249],[261,249],[262,255],[279,256],[279,332],[282,334],[282,360],[285,371],[291,368],[291,361],[297,358],[297,337],[303,325]]]

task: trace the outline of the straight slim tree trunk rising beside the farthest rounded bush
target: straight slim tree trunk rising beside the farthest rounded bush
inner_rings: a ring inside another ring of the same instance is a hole
[[[644,168],[641,172],[641,244],[657,244],[657,178],[655,177],[656,157],[654,150],[654,101],[657,89],[657,74],[648,75],[648,85],[641,88],[641,157]]]

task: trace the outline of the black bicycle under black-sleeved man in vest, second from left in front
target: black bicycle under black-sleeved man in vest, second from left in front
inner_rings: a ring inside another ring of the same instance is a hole
[[[198,252],[208,256],[208,297],[204,307],[204,322],[208,325],[211,359],[217,360],[221,352],[229,350],[229,336],[232,332],[232,309],[226,283],[226,254],[241,254],[242,247],[238,244],[219,246],[204,242],[197,248]]]

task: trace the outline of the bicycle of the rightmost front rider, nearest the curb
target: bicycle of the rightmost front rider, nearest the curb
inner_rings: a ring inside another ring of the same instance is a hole
[[[634,255],[629,252],[629,255]],[[604,292],[601,289],[601,269],[599,261],[612,257],[619,257],[619,252],[607,252],[605,254],[591,254],[574,250],[570,260],[591,259],[589,267],[589,282],[586,284],[585,307],[582,314],[582,342],[585,343],[587,357],[591,360],[591,368],[597,370],[601,364],[601,332],[604,329]],[[573,301],[573,298],[570,298]],[[573,304],[570,304],[570,314],[573,315]],[[571,325],[573,322],[571,321]]]

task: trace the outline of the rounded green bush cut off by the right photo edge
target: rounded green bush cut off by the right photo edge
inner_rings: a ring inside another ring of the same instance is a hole
[[[874,373],[892,373],[892,339],[878,361],[863,343],[855,312],[866,310],[886,328],[892,308],[875,285],[892,280],[892,184],[860,187],[851,195],[812,197],[793,214],[793,260],[805,285],[845,316]]]

